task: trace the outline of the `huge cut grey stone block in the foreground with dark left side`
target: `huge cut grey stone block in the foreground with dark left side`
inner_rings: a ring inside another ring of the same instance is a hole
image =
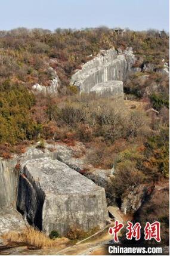
[[[108,218],[104,189],[58,160],[27,161],[18,183],[17,208],[30,224],[49,234],[85,232]]]

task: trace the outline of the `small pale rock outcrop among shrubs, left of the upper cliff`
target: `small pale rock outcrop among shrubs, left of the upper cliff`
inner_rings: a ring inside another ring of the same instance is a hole
[[[43,93],[43,94],[49,94],[49,95],[55,95],[58,94],[58,88],[60,87],[60,80],[57,76],[57,72],[52,69],[52,67],[49,67],[48,72],[50,72],[51,80],[50,85],[40,85],[35,84],[32,86],[32,90],[37,93]]]

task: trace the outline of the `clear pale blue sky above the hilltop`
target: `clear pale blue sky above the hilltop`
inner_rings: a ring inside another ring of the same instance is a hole
[[[128,27],[169,32],[169,0],[0,0],[0,30]]]

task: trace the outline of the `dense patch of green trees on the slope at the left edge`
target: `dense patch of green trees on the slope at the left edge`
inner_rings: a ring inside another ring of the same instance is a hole
[[[0,84],[0,144],[15,144],[37,137],[41,126],[30,113],[34,95],[23,85],[5,81]]]

